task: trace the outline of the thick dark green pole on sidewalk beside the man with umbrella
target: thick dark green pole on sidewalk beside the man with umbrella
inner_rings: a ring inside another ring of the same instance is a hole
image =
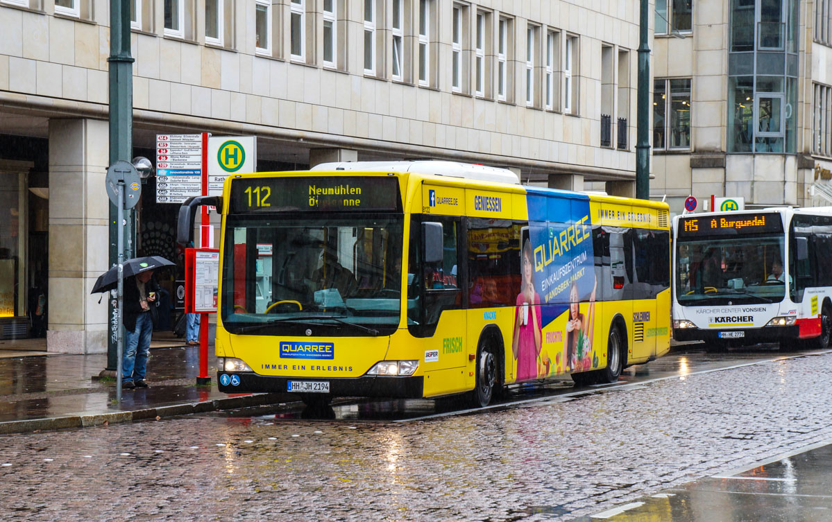
[[[110,165],[118,160],[128,163],[133,152],[133,58],[130,56],[130,0],[110,0]],[[135,213],[126,210],[125,218],[119,217],[115,204],[110,204],[109,264],[118,263],[119,257],[131,259],[133,256]],[[125,224],[126,220],[126,224]],[[118,243],[118,229],[125,227],[126,241],[123,246]],[[117,331],[115,299],[107,299],[110,318],[109,335],[107,335],[107,364],[102,376],[115,373],[118,369],[117,341],[121,333]]]

